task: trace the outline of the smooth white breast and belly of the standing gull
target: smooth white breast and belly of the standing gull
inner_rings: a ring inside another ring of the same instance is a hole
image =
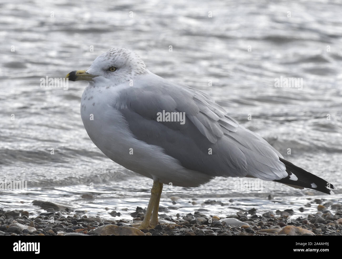
[[[115,108],[118,91],[124,85],[89,85],[81,100],[81,118],[94,144],[111,160],[123,167],[161,183],[196,187],[210,180],[208,175],[187,170],[161,147],[137,140],[122,114]]]

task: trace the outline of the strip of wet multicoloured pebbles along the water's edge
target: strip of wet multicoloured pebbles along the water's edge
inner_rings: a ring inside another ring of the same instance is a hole
[[[322,199],[312,199],[305,205],[305,207],[313,207],[317,210],[316,213],[308,214],[307,217],[292,218],[294,211],[290,208],[263,214],[258,214],[257,209],[251,208],[226,217],[194,211],[184,215],[177,213],[173,217],[159,217],[160,224],[154,229],[142,231],[136,228],[145,215],[145,210],[140,207],[131,213],[133,220],[111,220],[102,217],[87,217],[87,211],[73,211],[58,203],[39,200],[33,203],[44,208],[44,211],[35,217],[32,217],[33,212],[0,208],[0,235],[340,236],[342,233],[342,204]],[[304,210],[304,208],[299,210]],[[162,211],[159,210],[159,212]],[[120,217],[120,212],[108,213]],[[162,215],[165,216],[165,214]]]

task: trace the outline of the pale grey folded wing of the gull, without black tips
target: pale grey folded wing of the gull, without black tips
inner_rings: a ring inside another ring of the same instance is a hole
[[[183,167],[212,176],[246,175],[263,180],[287,176],[280,154],[239,126],[208,95],[167,81],[120,91],[115,108],[133,135],[162,147]],[[184,112],[185,123],[158,122],[157,113]]]

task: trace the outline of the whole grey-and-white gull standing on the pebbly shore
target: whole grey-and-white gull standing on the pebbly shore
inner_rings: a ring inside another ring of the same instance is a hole
[[[163,184],[198,187],[216,176],[254,177],[333,194],[332,184],[286,161],[209,95],[153,74],[131,50],[113,48],[66,78],[89,82],[81,118],[93,143],[153,179],[139,229],[158,224]]]

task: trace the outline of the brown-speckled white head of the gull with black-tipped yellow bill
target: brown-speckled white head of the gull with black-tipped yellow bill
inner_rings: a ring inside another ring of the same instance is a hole
[[[66,78],[118,85],[145,73],[148,73],[146,65],[135,52],[114,48],[98,56],[88,69],[72,71]]]

